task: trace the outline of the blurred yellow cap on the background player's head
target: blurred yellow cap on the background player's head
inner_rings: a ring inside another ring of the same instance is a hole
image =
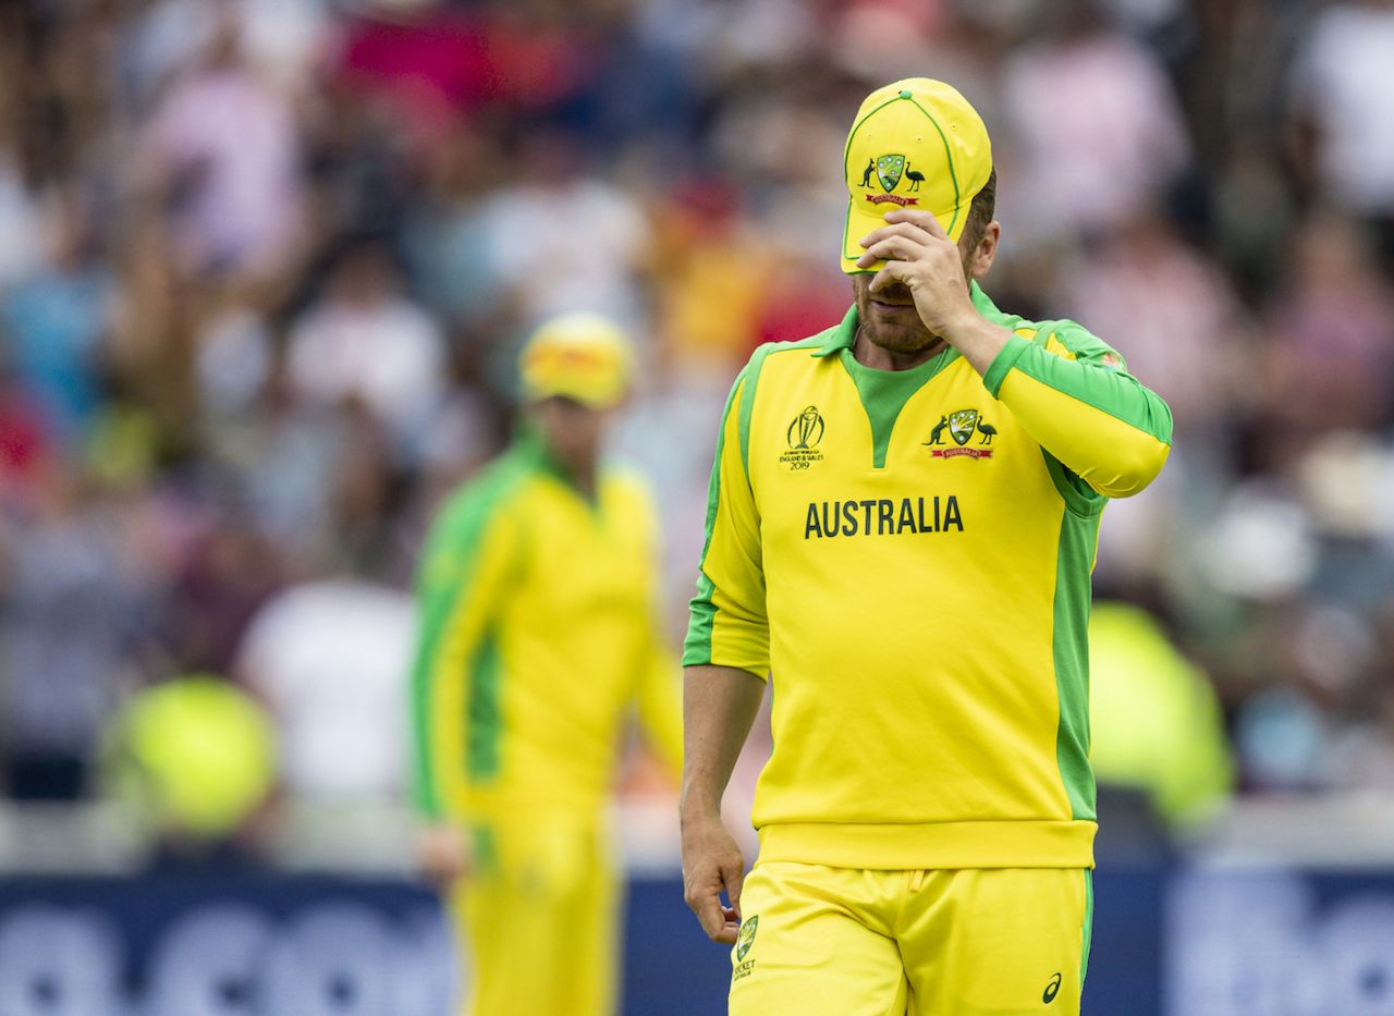
[[[520,361],[528,400],[566,396],[591,408],[619,404],[634,374],[629,337],[597,314],[563,314],[544,322]]]

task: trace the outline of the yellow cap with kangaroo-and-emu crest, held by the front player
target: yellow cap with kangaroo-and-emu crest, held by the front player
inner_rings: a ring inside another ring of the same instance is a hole
[[[967,209],[993,173],[987,127],[952,85],[905,78],[866,98],[843,152],[848,177],[848,224],[842,234],[842,270],[857,268],[866,249],[857,243],[885,226],[892,208],[931,212],[958,241]]]

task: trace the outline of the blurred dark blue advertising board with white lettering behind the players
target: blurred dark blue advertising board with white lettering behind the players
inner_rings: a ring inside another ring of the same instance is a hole
[[[1086,1016],[1394,1016],[1394,868],[1114,867],[1096,903]],[[630,884],[625,939],[625,1016],[722,1010],[676,875]],[[3,1016],[454,1016],[459,980],[397,877],[0,881]]]

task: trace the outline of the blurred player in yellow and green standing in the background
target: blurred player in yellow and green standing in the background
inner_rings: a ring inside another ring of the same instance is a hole
[[[619,892],[606,803],[626,714],[682,765],[647,489],[599,461],[630,383],[604,319],[523,353],[526,436],[449,499],[420,573],[415,794],[452,885],[473,1016],[611,1016]]]

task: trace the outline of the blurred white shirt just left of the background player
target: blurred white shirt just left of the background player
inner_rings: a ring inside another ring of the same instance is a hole
[[[291,796],[401,793],[414,637],[411,596],[362,581],[297,585],[258,612],[237,670],[275,716]]]

